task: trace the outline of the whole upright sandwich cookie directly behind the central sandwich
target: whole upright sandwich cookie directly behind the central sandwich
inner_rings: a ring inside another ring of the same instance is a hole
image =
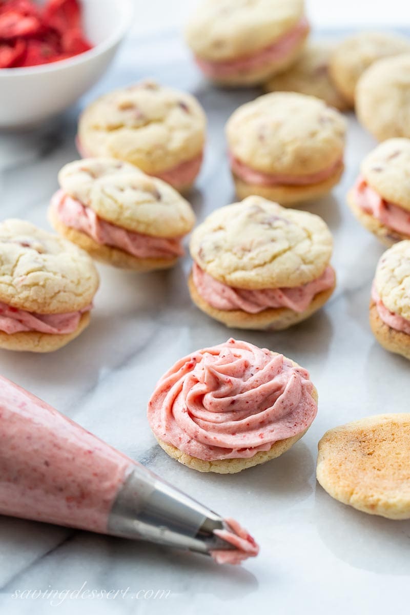
[[[240,106],[226,126],[237,195],[286,205],[326,194],[342,176],[345,129],[338,111],[303,94],[273,92]]]

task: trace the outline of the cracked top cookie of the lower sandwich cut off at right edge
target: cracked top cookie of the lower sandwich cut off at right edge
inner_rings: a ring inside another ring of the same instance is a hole
[[[377,263],[377,293],[390,312],[410,320],[410,241],[388,248]]]

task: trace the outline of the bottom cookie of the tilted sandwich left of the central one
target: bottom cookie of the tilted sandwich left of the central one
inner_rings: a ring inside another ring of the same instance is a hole
[[[154,269],[169,269],[178,261],[178,256],[175,256],[175,258],[136,258],[136,256],[128,254],[119,248],[98,244],[84,232],[77,231],[77,229],[63,224],[58,220],[52,208],[49,209],[49,220],[53,228],[60,235],[81,247],[95,260],[109,264],[112,267],[143,272],[153,271]]]

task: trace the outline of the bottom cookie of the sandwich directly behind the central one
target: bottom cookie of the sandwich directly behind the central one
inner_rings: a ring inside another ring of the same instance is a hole
[[[327,194],[331,191],[333,186],[339,183],[343,172],[344,164],[341,162],[331,177],[317,184],[310,184],[307,186],[258,186],[246,183],[237,177],[235,173],[232,173],[232,177],[234,178],[236,193],[240,200],[256,194],[256,196],[262,196],[265,199],[273,200],[286,207],[286,205],[317,199]]]

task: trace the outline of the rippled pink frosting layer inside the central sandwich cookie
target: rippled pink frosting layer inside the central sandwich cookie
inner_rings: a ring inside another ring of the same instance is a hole
[[[267,308],[290,308],[295,312],[304,312],[313,297],[333,287],[335,280],[334,271],[330,266],[326,267],[316,280],[294,288],[262,288],[262,290],[232,288],[215,280],[197,263],[194,263],[192,275],[197,291],[210,306],[221,310],[242,309],[249,314],[258,314]]]

